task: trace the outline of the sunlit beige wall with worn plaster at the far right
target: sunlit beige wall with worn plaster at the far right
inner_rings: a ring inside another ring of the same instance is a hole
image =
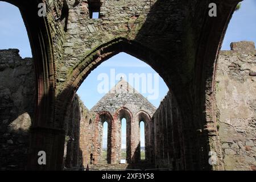
[[[216,72],[216,105],[224,167],[256,170],[256,51],[253,42],[221,51]]]

